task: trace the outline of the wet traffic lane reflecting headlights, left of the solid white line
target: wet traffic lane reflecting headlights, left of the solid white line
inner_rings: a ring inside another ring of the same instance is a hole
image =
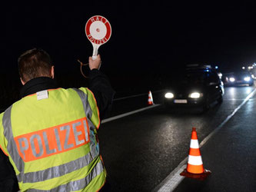
[[[191,128],[197,128],[198,140],[202,141],[253,90],[253,87],[226,88],[223,103],[212,105],[205,114],[189,110],[167,111],[160,106],[101,124],[101,154],[112,190],[154,190],[188,157]],[[254,99],[244,104],[241,112],[245,116],[251,115],[251,102],[254,103]],[[245,118],[239,121],[248,123]],[[254,124],[254,118],[250,124]]]

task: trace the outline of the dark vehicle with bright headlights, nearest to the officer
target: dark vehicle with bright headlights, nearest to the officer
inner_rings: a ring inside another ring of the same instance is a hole
[[[223,101],[224,84],[210,65],[187,65],[169,83],[164,98],[167,108],[195,106],[206,111],[214,101]]]

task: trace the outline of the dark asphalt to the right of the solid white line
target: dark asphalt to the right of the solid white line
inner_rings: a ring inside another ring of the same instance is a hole
[[[205,168],[212,174],[204,181],[185,178],[174,190],[256,191],[256,97],[244,104],[207,144],[201,147]]]

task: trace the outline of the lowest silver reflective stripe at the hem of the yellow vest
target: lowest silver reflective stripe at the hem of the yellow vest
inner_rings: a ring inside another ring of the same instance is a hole
[[[98,162],[98,164],[91,170],[90,174],[88,174],[85,178],[82,178],[81,180],[73,180],[69,182],[68,184],[62,184],[58,187],[55,187],[52,190],[37,190],[37,189],[29,189],[28,192],[57,192],[57,191],[74,191],[74,190],[82,190],[88,184],[90,184],[91,180],[94,179],[96,176],[101,174],[101,172],[104,170],[104,167],[101,163],[101,161]]]

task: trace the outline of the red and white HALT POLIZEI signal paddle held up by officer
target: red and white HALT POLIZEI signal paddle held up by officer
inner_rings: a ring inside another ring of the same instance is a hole
[[[91,41],[93,52],[92,59],[98,55],[98,48],[107,42],[111,36],[111,25],[105,17],[95,15],[89,18],[85,25],[85,34]]]

